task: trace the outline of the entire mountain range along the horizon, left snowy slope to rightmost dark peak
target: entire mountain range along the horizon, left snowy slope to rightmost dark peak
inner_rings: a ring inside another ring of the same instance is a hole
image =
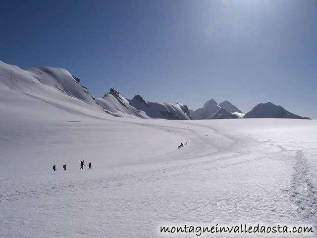
[[[85,113],[102,110],[115,117],[142,119],[238,119],[238,118],[290,118],[309,119],[288,112],[272,103],[258,104],[244,114],[228,101],[217,104],[207,101],[202,108],[189,110],[186,105],[176,103],[149,102],[140,95],[132,100],[123,97],[111,88],[102,98],[94,98],[80,79],[67,70],[53,67],[19,68],[0,61],[0,93],[7,96],[3,104],[26,103],[36,100],[63,110]],[[19,100],[14,97],[19,98]],[[30,108],[29,110],[36,110]]]

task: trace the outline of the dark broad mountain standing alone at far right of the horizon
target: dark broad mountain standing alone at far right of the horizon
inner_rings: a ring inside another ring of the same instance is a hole
[[[281,106],[276,106],[271,102],[260,103],[248,112],[243,118],[290,118],[290,119],[310,119],[303,118],[288,112]]]

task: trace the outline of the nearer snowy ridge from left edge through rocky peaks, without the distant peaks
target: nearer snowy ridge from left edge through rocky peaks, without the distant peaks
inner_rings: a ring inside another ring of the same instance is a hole
[[[190,119],[185,105],[151,103],[139,95],[129,100],[112,88],[103,98],[95,99],[79,82],[63,68],[19,68],[0,61],[1,104],[7,107],[17,108],[17,104],[35,100],[40,104],[37,107],[44,111],[52,110],[53,106],[86,115],[97,110],[116,117]]]

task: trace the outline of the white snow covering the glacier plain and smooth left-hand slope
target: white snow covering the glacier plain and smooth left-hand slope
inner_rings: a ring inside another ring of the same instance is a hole
[[[63,70],[67,84],[51,84],[36,77],[53,68],[1,64],[0,237],[169,237],[166,224],[316,230],[316,120],[117,118],[76,81],[68,87]]]

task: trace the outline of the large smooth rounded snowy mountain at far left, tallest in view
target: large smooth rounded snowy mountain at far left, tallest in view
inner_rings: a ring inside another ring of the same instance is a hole
[[[17,114],[27,111],[30,116],[35,111],[48,115],[45,113],[56,110],[85,115],[105,113],[78,81],[62,68],[19,68],[0,61],[1,106]]]

